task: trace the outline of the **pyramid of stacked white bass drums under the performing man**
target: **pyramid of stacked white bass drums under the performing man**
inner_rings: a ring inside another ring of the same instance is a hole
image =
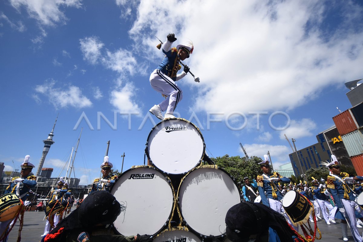
[[[240,189],[223,169],[202,165],[199,128],[166,119],[152,128],[146,146],[151,165],[123,172],[111,189],[124,206],[114,222],[117,233],[150,234],[160,242],[223,237],[225,215],[241,202]]]

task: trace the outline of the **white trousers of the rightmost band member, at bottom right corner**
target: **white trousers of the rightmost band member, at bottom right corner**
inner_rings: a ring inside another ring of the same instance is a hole
[[[362,242],[362,237],[359,234],[357,224],[356,224],[356,217],[355,217],[355,201],[347,200],[347,199],[340,199],[342,201],[343,208],[339,208],[340,213],[346,218],[350,230],[352,231],[352,235],[354,241]]]

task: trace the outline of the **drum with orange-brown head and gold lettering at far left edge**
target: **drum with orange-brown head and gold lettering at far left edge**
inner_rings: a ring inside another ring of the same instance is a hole
[[[14,193],[7,193],[0,196],[0,222],[12,220],[19,213],[22,204]]]

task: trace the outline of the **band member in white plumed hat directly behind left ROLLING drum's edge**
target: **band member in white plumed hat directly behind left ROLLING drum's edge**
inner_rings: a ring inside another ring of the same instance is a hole
[[[117,178],[117,176],[109,176],[112,167],[113,165],[109,161],[109,157],[105,156],[105,158],[103,158],[103,163],[101,164],[102,178],[95,179],[93,181],[90,193],[98,190],[106,190],[107,192],[110,192],[111,186],[114,184],[115,179]]]

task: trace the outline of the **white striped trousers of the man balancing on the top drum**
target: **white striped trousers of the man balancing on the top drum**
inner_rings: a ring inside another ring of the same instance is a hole
[[[183,91],[180,90],[178,85],[170,77],[158,69],[155,69],[151,73],[150,85],[155,91],[167,96],[163,102],[159,103],[161,110],[166,110],[167,114],[173,114],[176,105],[183,98]]]

